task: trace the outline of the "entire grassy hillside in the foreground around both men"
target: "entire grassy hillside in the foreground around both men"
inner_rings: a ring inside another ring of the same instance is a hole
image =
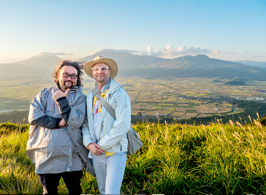
[[[124,194],[266,193],[266,127],[257,120],[192,126],[138,123],[143,148],[128,156]],[[28,125],[0,124],[0,194],[41,194],[26,156]],[[84,172],[83,193],[99,194]],[[61,180],[59,193],[67,193]]]

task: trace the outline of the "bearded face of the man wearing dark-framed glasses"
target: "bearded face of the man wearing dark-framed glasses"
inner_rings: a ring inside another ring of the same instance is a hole
[[[66,89],[73,89],[77,85],[77,78],[71,79],[71,76],[65,78],[61,73],[78,75],[77,69],[73,66],[63,66],[61,71],[57,74],[59,88],[61,89],[61,91],[64,92]]]

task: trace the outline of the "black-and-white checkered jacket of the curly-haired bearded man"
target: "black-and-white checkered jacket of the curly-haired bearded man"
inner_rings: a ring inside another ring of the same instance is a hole
[[[67,126],[50,129],[32,124],[32,121],[43,116],[62,118],[53,99],[57,90],[58,86],[43,89],[31,102],[27,155],[35,164],[37,174],[78,171],[85,167],[87,172],[95,175],[92,160],[87,158],[88,150],[83,145],[80,129],[86,116],[86,96],[81,87],[71,89],[66,96],[71,107]]]

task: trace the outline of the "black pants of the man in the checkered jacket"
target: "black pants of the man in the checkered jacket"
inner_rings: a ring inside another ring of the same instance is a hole
[[[72,171],[62,173],[39,174],[40,183],[43,186],[43,194],[58,194],[57,187],[62,177],[69,194],[82,194],[80,179],[83,177],[83,171]]]

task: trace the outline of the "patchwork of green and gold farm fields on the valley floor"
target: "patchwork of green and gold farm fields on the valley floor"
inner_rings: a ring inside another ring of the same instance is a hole
[[[266,82],[249,81],[245,86],[224,85],[229,80],[213,82],[205,78],[164,77],[116,77],[131,99],[131,113],[160,114],[176,119],[206,117],[241,112],[232,108],[226,99],[255,100],[264,98]],[[29,109],[30,102],[41,89],[54,85],[52,78],[1,81],[0,114]],[[94,80],[84,75],[83,92],[94,88]],[[223,98],[224,101],[213,101]],[[262,100],[262,99],[261,99]],[[260,101],[261,101],[260,100]]]

